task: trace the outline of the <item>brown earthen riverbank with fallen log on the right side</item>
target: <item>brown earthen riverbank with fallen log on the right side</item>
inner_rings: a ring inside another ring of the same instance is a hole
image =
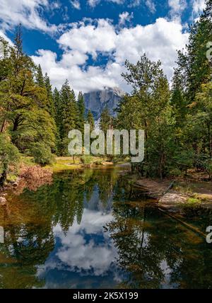
[[[168,212],[183,212],[186,207],[204,207],[212,210],[212,181],[194,171],[184,178],[158,179],[130,176],[134,187],[157,201]]]

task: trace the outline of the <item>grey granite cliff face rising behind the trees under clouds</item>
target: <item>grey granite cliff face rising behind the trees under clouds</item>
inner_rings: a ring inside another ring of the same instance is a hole
[[[86,110],[91,110],[95,120],[100,118],[102,110],[107,106],[110,113],[114,115],[116,108],[124,92],[119,88],[105,88],[103,91],[91,91],[84,94]]]

